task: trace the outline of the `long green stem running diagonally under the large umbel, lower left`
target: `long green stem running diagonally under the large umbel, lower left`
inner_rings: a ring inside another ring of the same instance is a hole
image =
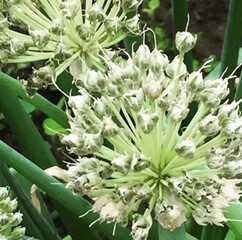
[[[69,211],[79,218],[79,216],[90,211],[90,204],[76,195],[73,195],[68,189],[64,187],[58,180],[46,174],[42,169],[30,162],[27,158],[13,150],[11,147],[0,141],[0,159],[13,167],[16,171],[26,177],[29,181],[37,185],[40,189],[46,192],[62,207],[69,209]],[[90,225],[93,221],[98,219],[98,215],[90,212],[81,219],[83,224]],[[114,240],[130,240],[129,231],[117,225],[115,236],[112,235],[113,224],[94,224],[92,228],[99,230],[108,238]]]

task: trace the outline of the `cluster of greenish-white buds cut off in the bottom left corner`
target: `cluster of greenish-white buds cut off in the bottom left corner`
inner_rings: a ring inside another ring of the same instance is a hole
[[[22,214],[15,212],[16,199],[11,200],[7,187],[0,187],[0,239],[21,240],[24,238],[25,228],[19,226]]]

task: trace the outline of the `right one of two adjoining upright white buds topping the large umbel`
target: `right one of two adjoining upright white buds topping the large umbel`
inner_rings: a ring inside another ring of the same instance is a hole
[[[168,64],[169,64],[168,57],[165,54],[162,54],[158,49],[155,48],[151,53],[151,59],[150,59],[151,71],[156,75],[160,75],[164,72]]]

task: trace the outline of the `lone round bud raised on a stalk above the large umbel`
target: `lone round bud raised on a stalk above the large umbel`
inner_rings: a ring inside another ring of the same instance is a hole
[[[179,52],[188,52],[196,44],[197,36],[193,36],[189,32],[177,32],[176,33],[176,48]]]

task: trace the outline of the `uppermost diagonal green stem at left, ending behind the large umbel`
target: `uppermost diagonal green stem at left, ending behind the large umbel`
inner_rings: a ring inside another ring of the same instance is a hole
[[[68,128],[68,118],[64,111],[56,107],[54,104],[49,102],[47,99],[42,97],[40,94],[35,94],[33,98],[26,95],[20,82],[14,78],[8,76],[7,74],[0,71],[0,84],[8,86],[13,92],[15,92],[19,97],[26,100],[30,104],[34,105],[39,111],[45,113],[47,116],[51,117],[62,127]]]

